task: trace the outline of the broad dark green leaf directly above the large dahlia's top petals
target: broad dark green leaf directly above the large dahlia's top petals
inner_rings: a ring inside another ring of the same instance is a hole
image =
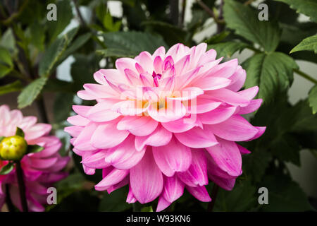
[[[104,34],[104,43],[107,47],[116,47],[129,52],[148,51],[153,53],[158,47],[166,47],[166,43],[159,35],[147,32],[108,32]]]

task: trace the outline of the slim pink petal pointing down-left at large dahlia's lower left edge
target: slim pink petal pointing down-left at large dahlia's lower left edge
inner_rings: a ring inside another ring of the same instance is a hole
[[[113,169],[104,179],[101,180],[94,188],[97,191],[104,191],[114,184],[118,184],[129,174],[129,170]]]

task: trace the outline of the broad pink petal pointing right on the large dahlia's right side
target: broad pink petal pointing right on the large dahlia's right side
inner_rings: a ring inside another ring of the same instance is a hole
[[[216,136],[228,141],[247,141],[253,138],[258,129],[249,124],[249,121],[240,115],[232,115],[226,121],[219,124],[206,125]]]

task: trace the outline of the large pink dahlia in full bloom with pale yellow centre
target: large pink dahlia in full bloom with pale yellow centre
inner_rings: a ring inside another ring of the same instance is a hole
[[[209,179],[230,190],[242,174],[249,150],[235,141],[251,141],[264,132],[242,117],[262,100],[258,87],[239,91],[246,73],[237,59],[220,64],[206,44],[175,44],[121,58],[116,69],[94,73],[99,84],[85,84],[77,95],[97,105],[73,106],[74,152],[87,174],[103,170],[95,189],[108,193],[129,185],[128,203],[159,197],[157,211],[186,188],[199,201],[211,198]]]

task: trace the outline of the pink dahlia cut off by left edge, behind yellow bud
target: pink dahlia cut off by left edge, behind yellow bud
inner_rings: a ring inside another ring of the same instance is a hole
[[[21,167],[24,174],[27,206],[30,211],[44,211],[42,205],[47,204],[47,189],[67,176],[61,172],[68,163],[69,157],[61,157],[58,150],[61,141],[56,136],[50,136],[51,125],[37,123],[36,117],[23,117],[17,109],[10,111],[8,106],[0,106],[0,136],[15,135],[19,127],[25,133],[25,141],[28,145],[40,145],[44,147],[39,153],[24,155]],[[8,161],[0,160],[0,168]],[[8,189],[8,191],[6,191]],[[22,210],[18,181],[15,169],[9,174],[0,175],[0,210],[6,201],[6,194],[10,194],[13,205]]]

